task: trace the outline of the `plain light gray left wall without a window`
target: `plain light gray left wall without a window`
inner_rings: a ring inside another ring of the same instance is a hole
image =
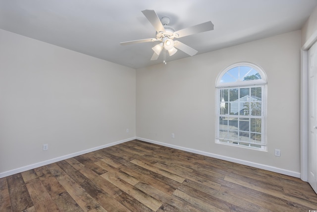
[[[135,72],[0,30],[0,177],[135,138]]]

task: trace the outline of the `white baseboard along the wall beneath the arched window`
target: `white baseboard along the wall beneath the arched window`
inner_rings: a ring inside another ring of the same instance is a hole
[[[264,170],[267,170],[267,171],[272,171],[272,172],[276,172],[276,173],[280,173],[280,174],[285,174],[285,175],[292,176],[292,177],[297,177],[297,178],[301,177],[301,173],[299,173],[299,172],[289,171],[289,170],[277,168],[277,167],[274,167],[274,166],[268,166],[268,165],[254,163],[254,162],[250,162],[250,161],[246,161],[246,160],[240,160],[240,159],[236,159],[236,158],[232,158],[232,157],[222,156],[222,155],[213,154],[213,153],[210,153],[210,152],[205,152],[205,151],[200,151],[200,150],[196,150],[196,149],[186,148],[186,147],[182,147],[182,146],[172,145],[172,144],[163,143],[163,142],[159,142],[159,141],[153,141],[153,140],[144,139],[144,138],[140,138],[140,137],[136,137],[136,139],[140,140],[140,141],[146,141],[146,142],[149,142],[149,143],[155,143],[155,144],[162,145],[162,146],[167,146],[167,147],[170,147],[170,148],[175,148],[175,149],[179,149],[179,150],[183,150],[183,151],[188,151],[188,152],[192,152],[192,153],[196,153],[196,154],[201,154],[201,155],[205,155],[205,156],[209,156],[209,157],[214,157],[214,158],[221,159],[221,160],[226,160],[226,161],[230,161],[230,162],[234,162],[234,163],[239,163],[239,164],[242,164],[242,165],[247,165],[247,166],[251,166],[251,167],[255,167],[255,168],[260,168],[260,169],[264,169]]]

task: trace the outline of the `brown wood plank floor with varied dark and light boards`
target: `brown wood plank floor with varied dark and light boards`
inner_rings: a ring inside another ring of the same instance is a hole
[[[0,212],[309,212],[306,182],[143,141],[0,179]]]

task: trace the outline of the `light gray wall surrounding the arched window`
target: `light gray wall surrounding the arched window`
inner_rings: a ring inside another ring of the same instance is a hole
[[[300,48],[299,30],[137,70],[137,137],[299,177]],[[266,72],[267,152],[215,143],[216,78],[237,62]]]

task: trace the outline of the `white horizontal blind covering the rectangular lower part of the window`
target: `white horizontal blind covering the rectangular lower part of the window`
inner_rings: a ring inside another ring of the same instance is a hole
[[[216,142],[266,149],[266,84],[216,88]]]

